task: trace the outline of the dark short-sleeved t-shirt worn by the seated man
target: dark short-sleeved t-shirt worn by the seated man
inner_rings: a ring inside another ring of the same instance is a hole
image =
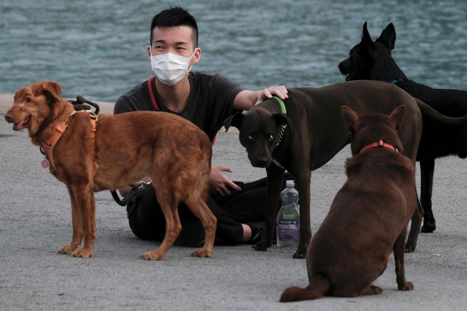
[[[153,79],[152,87],[159,109],[190,120],[202,129],[211,141],[224,124],[224,120],[240,111],[233,108],[233,100],[239,92],[245,90],[218,73],[189,72],[190,94],[188,102],[181,112],[176,113],[164,106],[156,90],[155,80]],[[113,108],[113,114],[137,110],[155,110],[149,95],[148,81],[136,85],[130,92],[120,96]]]

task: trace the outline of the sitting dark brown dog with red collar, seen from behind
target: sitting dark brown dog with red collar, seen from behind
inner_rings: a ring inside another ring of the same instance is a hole
[[[414,164],[399,153],[403,150],[397,130],[404,115],[405,106],[389,116],[359,115],[342,107],[352,135],[348,179],[311,238],[306,254],[310,284],[286,289],[281,302],[380,294],[382,289],[372,283],[386,269],[391,250],[398,289],[413,289],[405,279],[404,249],[417,194]]]

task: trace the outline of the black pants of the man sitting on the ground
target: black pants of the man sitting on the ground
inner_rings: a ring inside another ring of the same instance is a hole
[[[285,181],[290,179],[293,177],[286,173],[282,189],[285,189]],[[216,238],[226,244],[238,244],[243,236],[242,223],[264,221],[266,178],[244,184],[240,191],[233,190],[226,196],[209,196],[206,203],[217,219]],[[165,218],[154,188],[130,202],[127,213],[134,235],[142,240],[163,240]],[[205,231],[201,221],[183,202],[178,205],[178,215],[182,231],[174,244],[194,247],[203,242]]]

